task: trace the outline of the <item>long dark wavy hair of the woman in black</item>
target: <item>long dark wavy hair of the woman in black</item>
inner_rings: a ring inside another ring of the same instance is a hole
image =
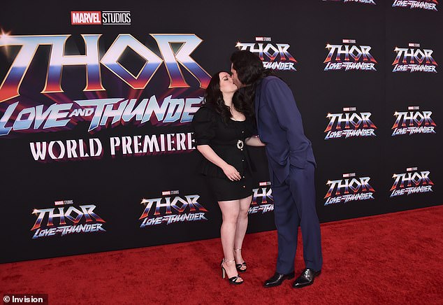
[[[224,71],[218,71],[215,73],[210,82],[208,87],[205,91],[205,97],[203,99],[203,105],[206,107],[210,107],[215,112],[222,115],[223,121],[227,124],[228,120],[232,118],[231,110],[228,106],[224,104],[223,100],[223,94],[222,91],[220,91],[220,76],[219,74]],[[241,97],[241,94],[238,94],[238,91],[234,93],[233,96],[233,106],[237,111],[240,111],[247,117],[253,116],[252,111],[252,104],[247,104]]]

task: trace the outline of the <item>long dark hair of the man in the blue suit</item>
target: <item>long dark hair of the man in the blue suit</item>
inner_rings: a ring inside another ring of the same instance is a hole
[[[274,73],[271,69],[263,68],[260,57],[247,50],[233,52],[231,63],[237,71],[238,79],[246,86],[240,90],[240,99],[252,105],[255,99],[255,88],[259,80],[266,76],[274,76]]]

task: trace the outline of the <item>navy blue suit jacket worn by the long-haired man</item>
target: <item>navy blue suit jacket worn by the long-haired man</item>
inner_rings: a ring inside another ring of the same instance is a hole
[[[260,139],[266,143],[270,179],[283,183],[290,166],[315,165],[311,142],[303,132],[300,112],[291,89],[275,76],[263,78],[256,87],[255,113]]]

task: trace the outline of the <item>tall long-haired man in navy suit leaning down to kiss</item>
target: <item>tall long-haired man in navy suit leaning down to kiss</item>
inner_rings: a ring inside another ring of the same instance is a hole
[[[263,68],[249,51],[231,55],[231,73],[245,101],[254,102],[259,137],[266,143],[273,188],[278,258],[274,276],[264,287],[294,277],[298,226],[303,237],[305,269],[293,288],[311,285],[321,273],[321,236],[315,208],[315,159],[311,142],[303,132],[296,101],[288,85]]]

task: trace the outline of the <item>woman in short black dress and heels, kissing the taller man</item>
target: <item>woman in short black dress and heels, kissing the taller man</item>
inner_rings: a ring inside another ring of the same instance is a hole
[[[229,73],[215,73],[192,120],[197,150],[204,157],[200,171],[208,177],[223,215],[222,276],[228,274],[234,285],[243,283],[238,271],[247,269],[241,249],[254,184],[245,144],[264,146],[254,136],[252,105],[238,98],[237,89]]]

